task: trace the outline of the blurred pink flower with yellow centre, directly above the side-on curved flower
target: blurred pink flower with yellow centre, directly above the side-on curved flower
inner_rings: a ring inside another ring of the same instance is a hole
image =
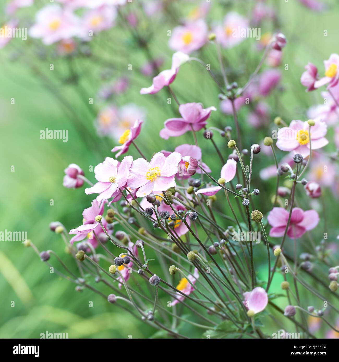
[[[207,25],[202,19],[177,26],[172,31],[169,47],[190,54],[207,42],[207,31]]]

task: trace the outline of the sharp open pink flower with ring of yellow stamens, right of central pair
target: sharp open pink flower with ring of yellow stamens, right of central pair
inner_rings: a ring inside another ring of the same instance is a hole
[[[178,172],[180,160],[178,152],[173,152],[168,157],[157,152],[150,162],[139,158],[132,163],[127,185],[131,189],[139,188],[137,197],[147,196],[153,190],[165,191],[175,187],[177,184],[174,175]]]

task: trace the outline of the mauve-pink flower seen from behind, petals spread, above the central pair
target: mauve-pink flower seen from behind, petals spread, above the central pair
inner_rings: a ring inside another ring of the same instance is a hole
[[[179,112],[182,118],[170,118],[165,121],[165,128],[160,131],[160,137],[168,139],[169,137],[178,137],[187,131],[200,131],[207,125],[206,119],[210,117],[211,111],[215,107],[202,108],[199,103],[186,103],[179,106]]]

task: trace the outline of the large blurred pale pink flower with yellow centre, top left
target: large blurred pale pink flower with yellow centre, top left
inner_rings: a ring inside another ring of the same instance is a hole
[[[36,23],[29,29],[29,35],[50,45],[72,37],[83,38],[86,32],[72,12],[59,5],[47,5],[37,12]]]

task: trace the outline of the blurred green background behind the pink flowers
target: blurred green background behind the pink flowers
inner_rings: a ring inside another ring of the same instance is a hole
[[[207,21],[221,21],[230,10],[246,16],[251,13],[253,2],[234,3],[220,1],[214,4]],[[282,71],[281,87],[267,100],[271,106],[271,119],[280,115],[287,122],[292,119],[305,120],[307,108],[321,103],[322,98],[320,92],[305,93],[299,79],[307,62],[316,64],[322,72],[323,60],[328,59],[332,52],[338,52],[339,5],[335,1],[328,2],[330,11],[316,13],[298,1],[268,3],[278,7],[279,29],[288,39],[279,67]],[[174,14],[186,15],[197,4],[174,2]],[[23,17],[32,20],[38,8],[40,6],[22,10]],[[154,22],[143,20],[145,28],[151,26],[155,30],[154,37],[148,39],[149,49],[154,58],[164,57],[161,69],[170,67],[172,55],[167,45],[167,30],[173,29],[179,20],[166,16]],[[328,31],[327,37],[324,37],[324,30]],[[274,24],[264,22],[261,34],[266,31],[274,32]],[[223,50],[231,81],[237,81],[239,85],[246,82],[261,58],[262,51],[257,51],[256,45],[255,39],[247,39],[239,46]],[[182,136],[180,140],[170,138],[168,141],[158,136],[163,122],[176,114],[177,106],[174,102],[167,104],[165,89],[153,96],[139,94],[141,87],[151,84],[151,78],[140,74],[140,66],[147,59],[128,29],[118,24],[112,30],[99,34],[89,43],[89,47],[93,55],[74,59],[73,68],[70,68],[70,60],[66,57],[53,55],[54,46],[44,47],[46,55],[38,56],[42,49],[40,41],[14,39],[0,49],[0,230],[27,231],[28,239],[40,251],[54,250],[67,265],[73,264],[72,258],[65,253],[61,238],[50,232],[48,225],[58,220],[68,229],[79,226],[82,223],[81,213],[92,200],[91,195],[84,194],[83,188],[70,190],[62,186],[63,170],[67,165],[80,165],[85,175],[94,181],[94,173],[88,172],[88,168],[102,162],[106,156],[113,156],[110,150],[115,142],[98,138],[93,126],[96,114],[106,105],[96,96],[100,86],[105,83],[101,77],[103,71],[112,72],[110,79],[127,76],[131,83],[127,93],[113,99],[115,105],[133,102],[146,109],[145,124],[137,140],[146,157],[162,149],[172,151],[185,142],[193,143],[190,134]],[[98,62],[96,57],[104,59],[105,65]],[[199,58],[210,63],[211,70],[220,75],[213,45],[206,45]],[[49,70],[51,63],[54,64],[54,71]],[[132,71],[128,71],[128,64],[132,64]],[[288,64],[286,71],[284,64]],[[75,69],[74,73],[70,69]],[[172,88],[181,102],[203,102],[205,107],[219,107],[218,88],[198,63],[182,66]],[[89,97],[94,98],[93,105],[88,104]],[[15,98],[15,104],[11,104],[11,98]],[[70,108],[65,109],[64,101]],[[247,124],[248,110],[245,108],[239,112],[239,119],[244,147],[249,148],[252,143],[260,143],[264,136],[270,134],[270,130],[253,130]],[[80,122],[81,132],[72,119]],[[232,117],[223,115],[219,110],[212,114],[208,123],[222,128],[233,126]],[[68,142],[41,140],[40,130],[46,127],[68,130]],[[328,131],[327,136],[332,141],[332,130]],[[227,156],[226,139],[217,135],[215,141]],[[201,133],[198,134],[198,143],[203,149],[203,160],[211,167],[213,175],[218,177],[219,160],[215,160],[211,144]],[[326,150],[331,150],[331,146]],[[138,157],[134,149],[131,149],[131,154]],[[285,153],[279,152],[278,158],[281,159],[283,155]],[[260,202],[263,204],[260,207],[262,212],[267,212],[276,181],[260,181],[258,172],[266,165],[273,164],[273,159],[263,154],[259,156],[255,160],[253,185],[261,190]],[[14,172],[11,171],[12,166],[15,167]],[[331,198],[330,190],[324,193],[331,209],[337,210],[338,200]],[[299,205],[306,205],[301,199],[306,200],[304,195],[300,193],[298,197]],[[51,199],[54,200],[53,206],[50,205]],[[224,200],[220,198],[218,205],[222,209]],[[306,206],[303,208],[307,209]],[[328,214],[328,225],[333,228],[334,223],[337,225],[338,217],[335,213]],[[227,223],[227,220],[221,222]],[[227,227],[227,224],[224,226]],[[320,241],[323,226],[319,226],[313,232],[313,239]],[[338,230],[328,232],[331,241],[335,241],[335,231]],[[266,259],[257,255],[255,262],[259,276],[266,278]],[[51,263],[59,265],[53,257]],[[281,281],[282,277],[276,275],[272,291],[280,290]],[[110,305],[99,295],[89,290],[76,292],[74,286],[56,274],[50,274],[49,268],[32,248],[25,248],[20,241],[0,241],[0,337],[39,338],[39,334],[45,331],[68,333],[69,338],[127,338],[128,334],[132,334],[133,338],[147,338],[154,334],[153,328]],[[327,292],[322,286],[314,286],[319,292]],[[101,287],[100,290],[109,294],[109,289],[105,288]],[[163,303],[166,298],[162,297]],[[302,294],[301,298],[305,303],[313,302],[310,294]],[[93,307],[88,306],[90,300]],[[11,307],[12,301],[15,307]],[[276,302],[281,308],[286,305],[284,298]],[[266,330],[275,332],[273,320],[266,318],[266,321]],[[325,330],[323,328],[319,335]],[[194,336],[200,334],[201,331],[192,332]]]

